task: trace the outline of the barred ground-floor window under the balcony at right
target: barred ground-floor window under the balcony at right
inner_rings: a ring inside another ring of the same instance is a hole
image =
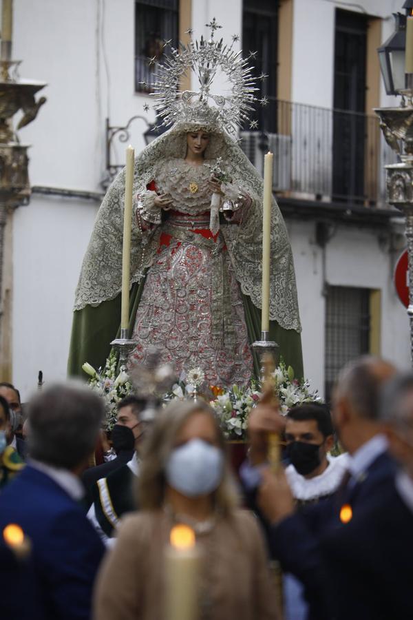
[[[330,402],[339,371],[369,352],[370,289],[328,287],[326,296],[325,395]]]

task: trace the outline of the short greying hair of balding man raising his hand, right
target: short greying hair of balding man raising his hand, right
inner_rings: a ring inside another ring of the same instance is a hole
[[[340,371],[336,395],[346,397],[359,417],[378,420],[381,389],[394,372],[394,366],[390,362],[374,355],[362,355],[346,364]]]

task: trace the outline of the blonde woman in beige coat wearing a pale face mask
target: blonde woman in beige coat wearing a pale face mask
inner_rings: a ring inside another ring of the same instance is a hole
[[[160,620],[171,527],[202,550],[200,620],[271,620],[275,594],[257,521],[237,508],[222,433],[202,402],[175,402],[153,428],[138,478],[140,512],[123,521],[95,592],[96,620]]]

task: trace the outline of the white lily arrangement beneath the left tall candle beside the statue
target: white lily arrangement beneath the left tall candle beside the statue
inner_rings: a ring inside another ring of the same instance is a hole
[[[116,371],[117,366],[118,358],[114,351],[110,353],[103,369],[96,371],[88,362],[82,366],[83,371],[90,377],[89,386],[105,401],[105,427],[108,430],[116,424],[118,402],[133,391],[125,366],[120,366],[119,372]]]

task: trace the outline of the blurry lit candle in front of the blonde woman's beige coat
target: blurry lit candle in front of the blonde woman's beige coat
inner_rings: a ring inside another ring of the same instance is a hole
[[[196,620],[200,552],[195,534],[186,525],[171,529],[171,544],[165,550],[165,619]]]

